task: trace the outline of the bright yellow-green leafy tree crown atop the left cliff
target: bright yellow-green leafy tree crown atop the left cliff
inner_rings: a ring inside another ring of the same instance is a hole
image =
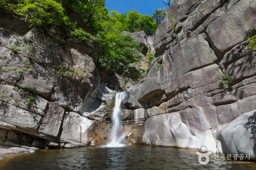
[[[17,5],[16,13],[25,16],[31,27],[49,32],[54,26],[64,25],[68,18],[64,16],[62,4],[54,0],[24,0]]]

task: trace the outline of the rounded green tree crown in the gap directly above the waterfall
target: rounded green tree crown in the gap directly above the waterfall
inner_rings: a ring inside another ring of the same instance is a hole
[[[112,72],[120,74],[142,61],[143,47],[131,35],[109,32],[102,35],[97,63]]]

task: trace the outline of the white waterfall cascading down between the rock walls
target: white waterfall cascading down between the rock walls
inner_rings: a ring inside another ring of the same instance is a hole
[[[119,129],[120,129],[120,104],[123,99],[126,97],[126,92],[117,92],[116,93],[116,100],[115,100],[115,107],[114,112],[112,113],[112,143],[108,144],[108,147],[120,147],[123,144],[120,144],[119,138]]]

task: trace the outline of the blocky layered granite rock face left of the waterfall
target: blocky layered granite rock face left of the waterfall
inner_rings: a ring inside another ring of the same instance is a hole
[[[110,141],[111,124],[105,121],[105,113],[86,118],[80,112],[86,101],[108,106],[115,95],[100,84],[94,64],[97,48],[72,40],[60,44],[36,28],[29,29],[17,17],[0,20],[0,152],[86,147],[94,139],[94,144]],[[56,66],[61,64],[79,74],[58,73]]]

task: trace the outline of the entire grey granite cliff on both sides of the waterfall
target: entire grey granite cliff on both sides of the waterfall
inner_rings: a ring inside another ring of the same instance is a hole
[[[115,90],[129,88],[123,143],[205,146],[256,159],[256,51],[246,47],[255,13],[255,0],[176,0],[155,35],[132,34],[144,55],[155,52],[136,86],[109,82],[93,46],[62,44],[17,17],[1,19],[0,152],[105,144]],[[59,74],[63,63],[83,74]]]

